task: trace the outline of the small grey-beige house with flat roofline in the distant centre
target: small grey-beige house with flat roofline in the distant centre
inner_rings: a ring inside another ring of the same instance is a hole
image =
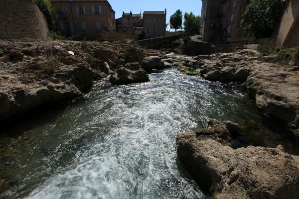
[[[144,33],[146,38],[165,36],[166,9],[164,11],[144,11]]]

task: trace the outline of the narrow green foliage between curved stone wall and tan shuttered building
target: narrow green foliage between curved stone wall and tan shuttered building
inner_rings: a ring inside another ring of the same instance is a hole
[[[51,31],[56,31],[57,17],[54,9],[51,7],[49,0],[34,0],[35,4],[39,7],[40,11],[46,16],[48,21],[48,27]]]

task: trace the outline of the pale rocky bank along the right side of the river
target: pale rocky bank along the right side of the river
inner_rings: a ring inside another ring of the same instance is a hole
[[[178,71],[200,75],[209,81],[244,82],[249,96],[272,119],[299,136],[299,67],[280,55],[261,56],[256,50],[234,53],[168,56],[162,61],[178,66]]]

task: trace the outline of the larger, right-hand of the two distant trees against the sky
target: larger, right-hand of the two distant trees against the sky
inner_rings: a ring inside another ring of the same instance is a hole
[[[186,37],[191,37],[194,34],[200,34],[201,19],[200,16],[195,16],[192,12],[184,14],[184,33]]]

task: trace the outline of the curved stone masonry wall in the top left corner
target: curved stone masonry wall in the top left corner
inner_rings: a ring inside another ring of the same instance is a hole
[[[33,0],[1,0],[0,39],[46,40],[48,26]]]

